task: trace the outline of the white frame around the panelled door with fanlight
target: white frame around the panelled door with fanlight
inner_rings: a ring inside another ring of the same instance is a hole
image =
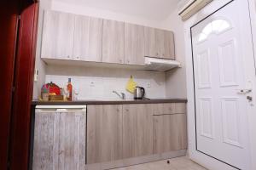
[[[201,20],[204,20],[207,18],[207,16],[211,15],[212,13],[216,12],[219,8],[224,7],[226,4],[233,2],[233,1],[239,1],[239,3],[245,3],[244,0],[216,0],[212,1],[212,3],[209,3],[205,8],[201,9],[197,14],[192,16],[189,20],[184,22],[184,35],[185,35],[185,52],[186,52],[186,73],[187,73],[187,95],[188,95],[188,104],[187,104],[187,110],[188,110],[188,132],[189,132],[189,157],[198,163],[200,163],[202,166],[207,167],[212,170],[219,170],[219,169],[225,169],[225,170],[234,170],[235,167],[230,167],[229,165],[225,164],[222,161],[218,161],[215,158],[212,158],[211,156],[207,156],[200,151],[196,150],[196,127],[195,127],[195,88],[194,88],[194,68],[193,68],[193,50],[191,45],[191,27],[195,26],[197,23],[199,23]],[[254,0],[247,0],[249,2],[253,2]],[[253,2],[254,4],[254,2]],[[254,9],[254,8],[253,8]],[[250,8],[252,10],[252,8]],[[255,20],[256,20],[256,9],[254,11],[255,14]],[[252,14],[251,14],[252,15]],[[251,17],[252,18],[252,17]],[[251,21],[252,23],[252,21]],[[255,24],[256,28],[256,24]],[[256,30],[256,29],[254,29]],[[255,39],[254,44],[256,44],[256,31],[254,32]],[[256,52],[256,47],[254,46]],[[255,55],[255,54],[254,54]],[[255,85],[254,85],[255,87]],[[253,92],[253,97],[255,99],[255,89]],[[253,107],[253,112],[256,112],[256,108]],[[251,114],[249,115],[249,127],[250,132],[250,142],[252,147],[252,154],[251,158],[252,160],[256,160],[256,146],[253,147],[253,144],[256,143],[256,134],[253,132],[253,129],[256,129],[256,114],[254,116]],[[252,169],[256,169],[256,163],[253,162]]]

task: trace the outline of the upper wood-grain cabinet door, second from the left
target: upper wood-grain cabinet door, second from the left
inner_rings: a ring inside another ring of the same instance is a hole
[[[75,17],[73,59],[102,62],[102,19]]]

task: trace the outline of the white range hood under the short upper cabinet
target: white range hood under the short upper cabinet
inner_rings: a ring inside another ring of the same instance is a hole
[[[146,71],[169,71],[175,67],[181,67],[181,63],[177,60],[145,57],[143,69]]]

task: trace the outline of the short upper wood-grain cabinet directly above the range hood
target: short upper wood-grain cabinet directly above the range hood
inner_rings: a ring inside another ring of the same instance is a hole
[[[172,31],[144,27],[145,56],[175,59],[174,36]]]

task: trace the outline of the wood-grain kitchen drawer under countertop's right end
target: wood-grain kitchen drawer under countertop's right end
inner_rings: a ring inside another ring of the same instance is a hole
[[[153,106],[154,115],[172,115],[178,113],[186,113],[186,104],[184,103],[168,103],[155,104]]]

